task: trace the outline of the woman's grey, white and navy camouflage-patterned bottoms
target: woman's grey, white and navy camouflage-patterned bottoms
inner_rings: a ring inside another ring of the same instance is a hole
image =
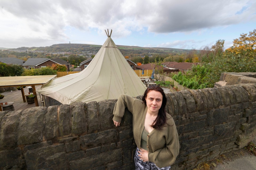
[[[135,169],[136,170],[169,170],[171,166],[169,167],[163,167],[163,168],[158,168],[157,165],[155,165],[153,162],[143,162],[141,159],[139,159],[139,148],[137,147],[135,155],[134,155],[134,162],[135,162]]]

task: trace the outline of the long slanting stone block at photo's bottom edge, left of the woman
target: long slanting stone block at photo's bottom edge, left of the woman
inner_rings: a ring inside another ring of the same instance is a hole
[[[103,152],[99,155],[93,155],[86,158],[70,161],[70,170],[77,169],[92,169],[101,165],[106,165],[110,162],[122,160],[122,149]]]

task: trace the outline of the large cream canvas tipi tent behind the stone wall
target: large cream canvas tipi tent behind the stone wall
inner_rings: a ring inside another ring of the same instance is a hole
[[[120,94],[143,95],[145,85],[110,36],[81,72],[55,78],[38,92],[62,104],[117,99]]]

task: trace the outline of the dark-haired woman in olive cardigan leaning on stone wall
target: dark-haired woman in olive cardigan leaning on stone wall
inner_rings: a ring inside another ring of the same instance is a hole
[[[125,108],[133,114],[133,135],[137,149],[136,169],[170,169],[179,153],[179,139],[173,118],[165,112],[166,96],[159,86],[149,86],[142,101],[120,95],[113,122],[119,126]]]

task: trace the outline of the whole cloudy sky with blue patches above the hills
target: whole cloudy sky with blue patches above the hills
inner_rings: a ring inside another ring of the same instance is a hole
[[[225,48],[256,29],[255,0],[0,0],[0,47],[60,43]]]

